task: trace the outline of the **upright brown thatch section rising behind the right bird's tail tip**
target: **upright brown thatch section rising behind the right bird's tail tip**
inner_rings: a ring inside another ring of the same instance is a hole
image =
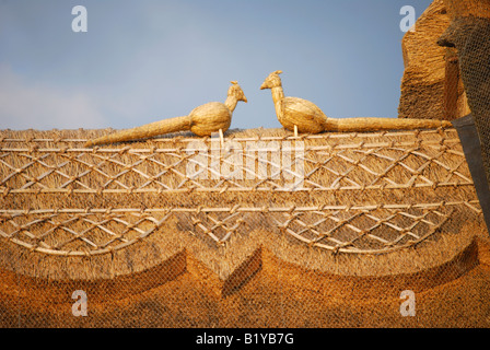
[[[443,0],[434,0],[401,42],[405,72],[399,118],[453,120],[469,113],[454,49],[436,42],[450,25]]]

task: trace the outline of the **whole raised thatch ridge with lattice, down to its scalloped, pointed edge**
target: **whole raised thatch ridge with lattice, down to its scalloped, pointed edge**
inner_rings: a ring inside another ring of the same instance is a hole
[[[476,221],[477,230],[485,231],[452,128],[299,138],[282,129],[226,132],[226,140],[237,142],[303,142],[306,186],[313,187],[298,191],[278,191],[282,178],[209,179],[211,191],[186,186],[174,191],[172,186],[185,184],[182,168],[159,179],[171,187],[104,191],[101,185],[116,182],[136,185],[136,189],[144,183],[154,186],[143,175],[151,177],[173,164],[164,156],[184,154],[195,140],[211,142],[180,133],[83,148],[88,138],[104,132],[1,132],[2,242],[7,238],[2,266],[50,279],[110,278],[158,266],[185,248],[225,281],[264,246],[283,260],[313,269],[362,275],[368,267],[352,272],[352,265],[341,267],[334,257],[364,253],[362,261],[370,260],[370,254],[389,256],[392,250],[406,250],[428,240],[444,240],[460,232],[467,221]],[[160,158],[149,162],[149,156]],[[77,182],[81,187],[73,186]],[[246,182],[259,187],[249,189],[243,186]],[[83,192],[88,188],[94,190]],[[329,233],[318,235],[322,232]],[[11,260],[14,256],[22,257],[18,265]]]

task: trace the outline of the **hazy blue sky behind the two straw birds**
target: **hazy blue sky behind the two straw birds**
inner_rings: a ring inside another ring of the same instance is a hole
[[[400,9],[429,0],[0,0],[0,129],[129,128],[248,98],[232,128],[277,128],[264,79],[327,116],[396,117]],[[72,8],[88,11],[75,33]]]

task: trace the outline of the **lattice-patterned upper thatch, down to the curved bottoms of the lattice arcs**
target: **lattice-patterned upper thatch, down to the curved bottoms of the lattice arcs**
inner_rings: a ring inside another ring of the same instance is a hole
[[[246,131],[224,148],[188,137],[85,149],[84,131],[3,135],[0,234],[54,256],[106,255],[175,228],[211,247],[257,230],[331,252],[386,253],[480,212],[454,129]],[[199,166],[192,176],[189,165]]]

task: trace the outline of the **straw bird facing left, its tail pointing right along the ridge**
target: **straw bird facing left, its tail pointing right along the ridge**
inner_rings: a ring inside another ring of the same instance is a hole
[[[423,129],[451,127],[446,120],[398,119],[398,118],[328,118],[314,103],[299,98],[284,97],[281,79],[277,70],[266,78],[260,90],[270,89],[279,122],[288,130],[305,133],[324,131],[377,131],[398,129]]]

